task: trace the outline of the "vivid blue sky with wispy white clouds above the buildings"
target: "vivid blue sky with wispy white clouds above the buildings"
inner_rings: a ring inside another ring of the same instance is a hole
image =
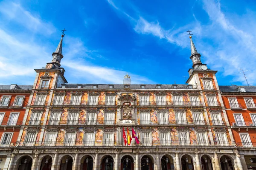
[[[0,84],[32,85],[66,28],[69,83],[184,84],[189,36],[219,85],[256,84],[255,0],[3,0]]]

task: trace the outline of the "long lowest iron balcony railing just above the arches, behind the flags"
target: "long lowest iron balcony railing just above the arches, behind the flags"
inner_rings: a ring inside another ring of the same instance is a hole
[[[124,146],[175,146],[175,147],[182,147],[182,146],[194,146],[194,147],[207,147],[207,146],[214,146],[214,147],[225,147],[225,146],[235,146],[234,142],[230,141],[222,141],[221,143],[210,143],[209,141],[172,141],[172,140],[152,140],[152,141],[143,141],[141,140],[139,144],[137,144],[135,141],[131,141],[131,144],[128,145],[124,143],[123,140],[121,141],[103,141],[103,140],[81,140],[81,141],[29,141],[29,142],[20,142],[18,144],[20,147],[124,147]]]

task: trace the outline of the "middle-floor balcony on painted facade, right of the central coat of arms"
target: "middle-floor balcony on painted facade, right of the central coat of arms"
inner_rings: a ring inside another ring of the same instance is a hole
[[[189,122],[188,120],[140,120],[140,125],[207,125],[207,122],[204,120],[198,120]]]

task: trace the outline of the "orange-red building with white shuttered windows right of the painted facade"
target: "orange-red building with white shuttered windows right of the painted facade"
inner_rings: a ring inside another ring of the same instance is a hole
[[[220,86],[244,170],[256,170],[256,86]]]

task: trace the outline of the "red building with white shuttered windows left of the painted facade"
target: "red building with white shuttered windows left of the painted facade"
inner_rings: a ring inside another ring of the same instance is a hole
[[[0,169],[8,167],[16,145],[32,85],[0,85]]]

